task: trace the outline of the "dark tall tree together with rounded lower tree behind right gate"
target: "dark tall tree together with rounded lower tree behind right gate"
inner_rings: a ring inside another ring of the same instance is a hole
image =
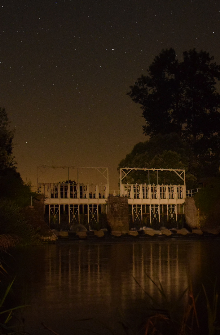
[[[185,51],[179,61],[173,49],[162,50],[127,93],[141,106],[148,140],[136,144],[119,167],[186,169],[188,189],[202,177],[218,176],[219,80],[220,66],[209,53]]]

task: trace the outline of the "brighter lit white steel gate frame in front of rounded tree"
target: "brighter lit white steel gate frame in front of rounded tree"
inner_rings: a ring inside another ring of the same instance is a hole
[[[123,184],[123,180],[130,172],[146,172],[147,184]],[[178,176],[178,185],[163,185],[158,183],[158,172],[171,172]],[[150,184],[152,174],[157,184]],[[132,221],[142,222],[143,215],[150,216],[150,222],[154,219],[160,221],[161,215],[166,215],[167,220],[177,220],[180,207],[186,199],[185,170],[179,169],[120,169],[120,190],[121,196],[128,197],[128,204],[131,208]]]

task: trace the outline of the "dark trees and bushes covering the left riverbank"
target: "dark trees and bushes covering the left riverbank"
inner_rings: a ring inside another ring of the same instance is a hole
[[[39,243],[36,230],[23,215],[30,197],[36,194],[16,171],[13,137],[7,113],[0,108],[0,250]]]

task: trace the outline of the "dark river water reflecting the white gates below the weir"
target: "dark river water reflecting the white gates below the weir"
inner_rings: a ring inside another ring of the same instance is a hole
[[[124,334],[116,322],[141,323],[151,301],[147,294],[163,307],[148,276],[161,282],[174,306],[189,279],[196,293],[201,282],[219,276],[220,241],[44,245],[20,250],[15,261],[14,293],[30,304],[22,314],[25,331],[50,334],[43,322],[60,335],[90,334],[86,329],[107,335],[106,327],[114,325]]]

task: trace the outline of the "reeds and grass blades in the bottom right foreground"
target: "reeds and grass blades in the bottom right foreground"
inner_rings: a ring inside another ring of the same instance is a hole
[[[179,298],[172,303],[169,303],[164,291],[164,288],[159,281],[159,284],[149,277],[146,273],[148,279],[154,284],[154,286],[159,291],[163,301],[164,301],[164,310],[156,309],[154,306],[151,306],[150,315],[146,316],[145,325],[143,327],[145,335],[215,335],[220,334],[220,328],[217,326],[219,322],[217,318],[218,310],[218,292],[217,292],[217,279],[215,283],[212,283],[213,287],[213,297],[210,299],[208,297],[207,291],[202,284],[202,290],[194,296],[192,289],[192,283],[189,281],[189,286],[182,292]],[[141,287],[138,281],[134,278],[136,283]],[[141,287],[142,288],[142,287]],[[157,303],[155,299],[142,288],[145,294],[151,299],[154,303]],[[180,300],[188,295],[187,303],[184,308],[184,312],[181,316],[181,322],[179,323],[173,317],[173,312],[178,310],[178,305]],[[206,315],[198,314],[198,298],[203,300]],[[200,321],[203,320],[203,327],[200,325]],[[204,333],[204,321],[207,326],[207,331]]]

